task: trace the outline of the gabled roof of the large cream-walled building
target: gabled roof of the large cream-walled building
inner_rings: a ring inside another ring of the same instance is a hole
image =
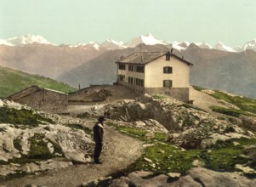
[[[117,63],[145,65],[166,54],[169,54],[170,56],[174,56],[174,58],[176,59],[180,59],[181,61],[185,62],[185,64],[187,65],[193,65],[190,62],[186,61],[185,59],[180,58],[176,54],[172,54],[170,52],[139,52],[135,54],[130,54],[127,57],[122,57],[121,59],[117,60]]]

